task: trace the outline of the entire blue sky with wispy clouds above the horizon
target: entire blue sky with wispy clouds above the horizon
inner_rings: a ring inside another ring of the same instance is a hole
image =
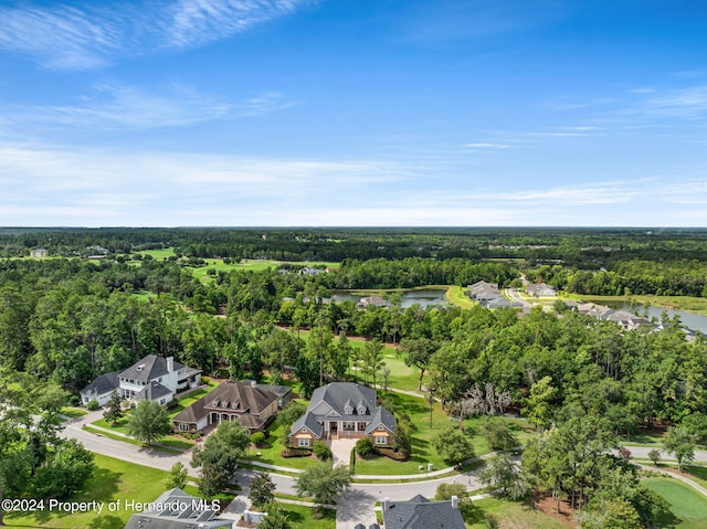
[[[0,1],[0,225],[707,226],[707,3]]]

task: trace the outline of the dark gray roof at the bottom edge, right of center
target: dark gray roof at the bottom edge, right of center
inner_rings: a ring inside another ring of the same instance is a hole
[[[386,529],[464,529],[464,519],[451,501],[430,501],[415,496],[410,501],[389,502],[383,509]]]

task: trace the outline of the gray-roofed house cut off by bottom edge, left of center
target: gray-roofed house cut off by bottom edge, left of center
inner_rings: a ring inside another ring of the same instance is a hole
[[[161,494],[155,501],[128,519],[124,529],[219,529],[233,527],[233,520],[220,519],[211,501],[180,488]]]

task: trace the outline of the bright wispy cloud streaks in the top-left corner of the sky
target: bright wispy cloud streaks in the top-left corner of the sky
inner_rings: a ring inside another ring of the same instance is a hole
[[[155,0],[0,8],[0,49],[82,70],[160,49],[199,46],[286,17],[315,0]]]

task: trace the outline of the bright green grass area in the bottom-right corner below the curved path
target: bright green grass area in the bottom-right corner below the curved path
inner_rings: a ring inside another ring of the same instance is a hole
[[[667,477],[652,477],[643,483],[671,504],[673,520],[663,520],[661,527],[677,529],[707,528],[707,499],[687,485]]]

